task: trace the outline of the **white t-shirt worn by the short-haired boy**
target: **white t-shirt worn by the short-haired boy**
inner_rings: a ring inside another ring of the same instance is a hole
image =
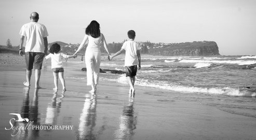
[[[122,49],[125,50],[125,66],[138,65],[137,50],[141,49],[139,43],[135,41],[126,41]]]

